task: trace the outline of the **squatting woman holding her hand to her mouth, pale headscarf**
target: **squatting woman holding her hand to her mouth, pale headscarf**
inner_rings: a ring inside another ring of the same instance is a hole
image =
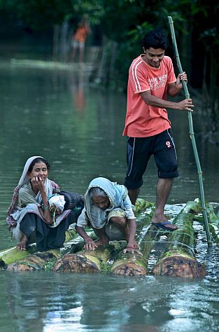
[[[39,251],[62,247],[66,230],[71,223],[76,223],[83,209],[83,196],[72,193],[71,209],[65,206],[62,213],[54,213],[48,197],[60,190],[48,179],[49,169],[43,157],[29,158],[14,190],[6,220],[20,250],[26,250],[27,244],[33,242]]]

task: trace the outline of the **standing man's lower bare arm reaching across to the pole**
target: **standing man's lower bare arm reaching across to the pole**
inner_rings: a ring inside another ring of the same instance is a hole
[[[151,95],[150,90],[140,93],[144,102],[150,106],[160,107],[164,109],[179,109],[184,111],[192,111],[192,99],[183,99],[181,102],[169,102],[168,100],[157,98]]]

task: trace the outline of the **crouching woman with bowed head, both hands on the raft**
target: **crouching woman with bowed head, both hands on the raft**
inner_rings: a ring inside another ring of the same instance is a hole
[[[85,233],[85,226],[91,226],[99,237],[92,240]],[[139,249],[134,240],[136,221],[125,186],[98,177],[90,182],[85,193],[85,207],[78,217],[76,230],[85,240],[85,249],[94,250],[109,240],[126,240],[124,253]]]

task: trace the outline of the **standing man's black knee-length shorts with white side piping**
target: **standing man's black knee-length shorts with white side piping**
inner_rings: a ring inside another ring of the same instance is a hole
[[[170,129],[151,137],[129,137],[125,178],[128,189],[142,186],[142,177],[151,155],[154,155],[159,178],[178,177],[176,150]]]

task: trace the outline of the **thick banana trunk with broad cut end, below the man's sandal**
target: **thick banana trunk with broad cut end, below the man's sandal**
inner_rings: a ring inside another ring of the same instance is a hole
[[[195,257],[194,213],[200,212],[199,203],[188,202],[174,219],[178,229],[171,232],[164,253],[153,268],[154,275],[171,277],[204,277],[204,265]]]

